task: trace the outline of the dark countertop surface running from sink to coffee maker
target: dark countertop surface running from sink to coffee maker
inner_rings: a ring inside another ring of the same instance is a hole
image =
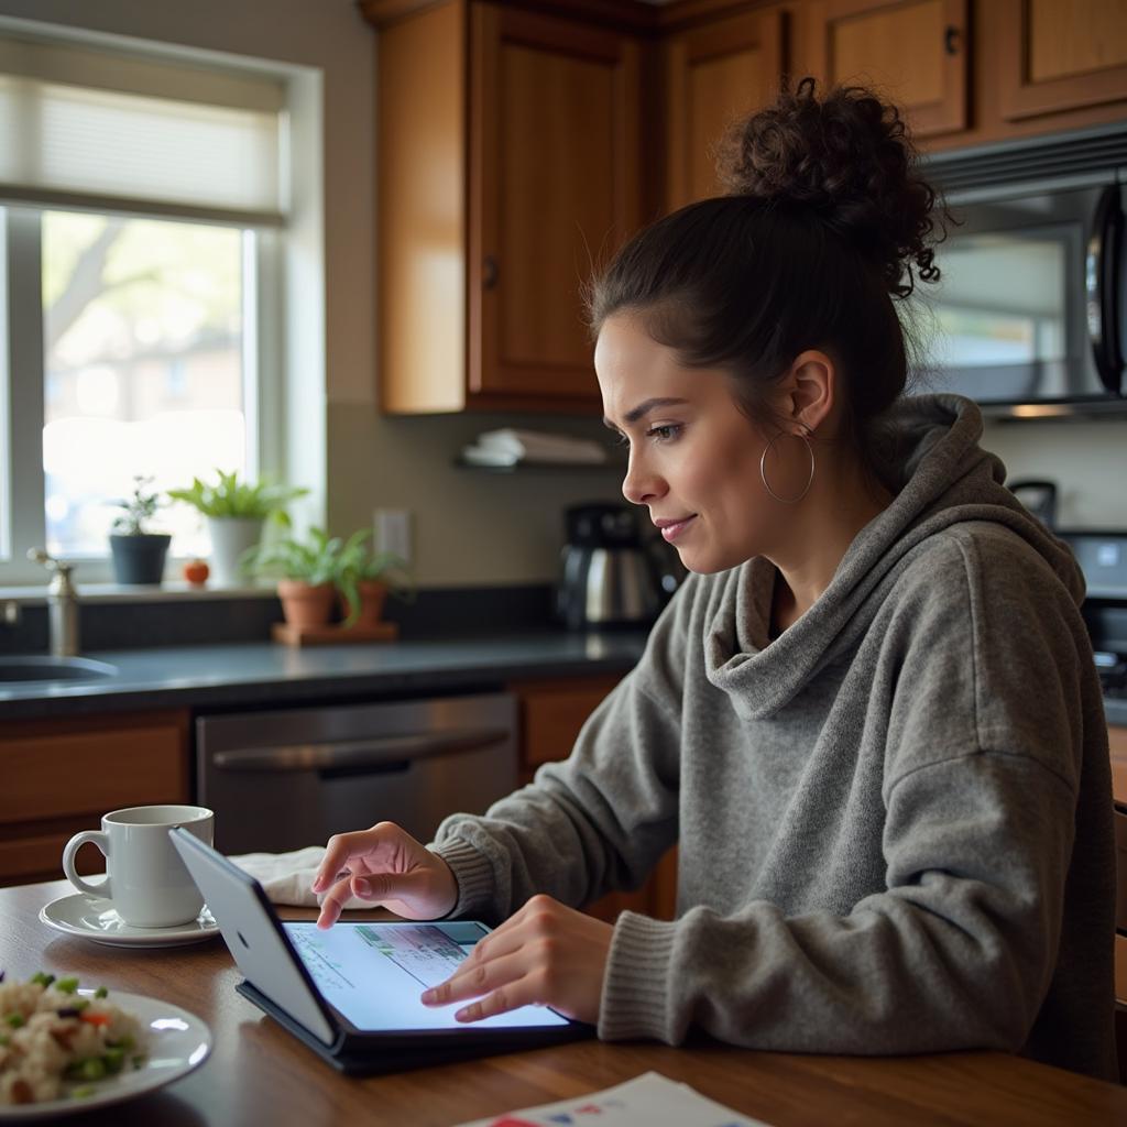
[[[431,696],[535,677],[625,673],[645,631],[542,631],[495,638],[292,648],[272,642],[100,650],[115,666],[85,682],[0,683],[0,721],[156,708],[282,704]]]

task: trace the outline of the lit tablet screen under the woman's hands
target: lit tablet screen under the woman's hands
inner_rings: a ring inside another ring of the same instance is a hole
[[[468,1004],[428,1006],[419,995],[445,982],[479,939],[480,923],[316,923],[282,924],[318,990],[356,1029],[512,1029],[566,1026],[547,1006],[525,1005],[481,1021],[461,1022],[454,1013]]]

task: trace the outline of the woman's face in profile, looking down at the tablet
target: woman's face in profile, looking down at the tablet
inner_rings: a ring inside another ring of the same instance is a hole
[[[691,571],[762,554],[780,521],[760,479],[766,440],[736,406],[720,370],[682,367],[630,313],[603,323],[595,372],[604,421],[630,444],[622,494]]]

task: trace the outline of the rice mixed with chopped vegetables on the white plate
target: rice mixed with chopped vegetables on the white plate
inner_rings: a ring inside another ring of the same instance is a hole
[[[0,1107],[80,1095],[91,1082],[140,1067],[140,1023],[107,994],[79,994],[77,978],[45,974],[0,980]]]

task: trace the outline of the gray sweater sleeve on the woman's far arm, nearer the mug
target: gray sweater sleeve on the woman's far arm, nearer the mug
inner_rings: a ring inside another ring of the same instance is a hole
[[[547,893],[582,906],[642,884],[677,835],[683,586],[638,666],[591,715],[570,756],[482,817],[446,818],[429,846],[454,872],[453,914],[502,920]]]

